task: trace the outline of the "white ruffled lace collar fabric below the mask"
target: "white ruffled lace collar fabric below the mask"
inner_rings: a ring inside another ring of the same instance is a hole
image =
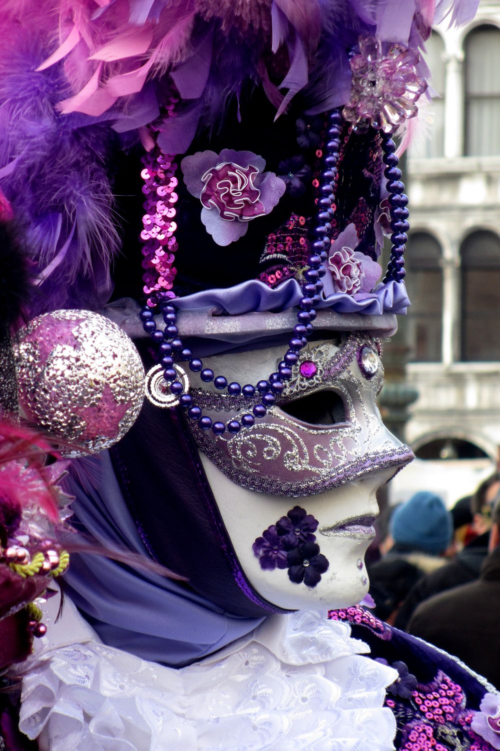
[[[394,747],[383,702],[396,671],[324,613],[272,617],[179,670],[106,647],[89,630],[79,643],[45,641],[29,661],[20,728],[42,751]]]

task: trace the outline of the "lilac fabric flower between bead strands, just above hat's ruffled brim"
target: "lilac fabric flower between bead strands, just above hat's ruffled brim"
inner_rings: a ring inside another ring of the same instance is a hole
[[[371,292],[381,277],[382,267],[368,255],[355,252],[359,240],[354,224],[348,225],[332,243],[328,256],[331,289],[328,275],[324,277],[324,294],[343,292],[355,295]]]

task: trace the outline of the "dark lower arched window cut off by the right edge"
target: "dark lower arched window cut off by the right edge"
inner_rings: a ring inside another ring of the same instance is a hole
[[[462,257],[462,360],[500,360],[500,238],[486,230],[468,235]]]

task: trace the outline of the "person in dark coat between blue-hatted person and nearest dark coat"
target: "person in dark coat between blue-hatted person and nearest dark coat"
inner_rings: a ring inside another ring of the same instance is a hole
[[[495,472],[477,487],[471,496],[470,542],[445,566],[429,572],[415,582],[399,608],[394,625],[405,631],[414,611],[429,597],[460,584],[468,584],[479,578],[481,566],[488,555],[489,530],[492,526],[492,508],[500,491],[500,475]],[[453,516],[453,511],[452,511]]]

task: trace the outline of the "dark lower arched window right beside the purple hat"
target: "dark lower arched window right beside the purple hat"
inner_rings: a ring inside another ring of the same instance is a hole
[[[414,232],[408,238],[405,253],[405,277],[411,307],[406,330],[412,362],[435,363],[441,360],[443,275],[441,246],[427,232]]]

